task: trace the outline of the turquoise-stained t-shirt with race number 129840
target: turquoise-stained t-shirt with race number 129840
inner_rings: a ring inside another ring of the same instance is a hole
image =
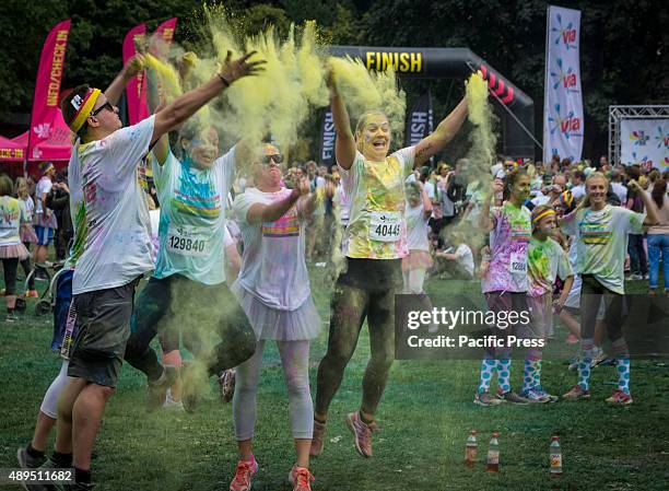
[[[155,278],[178,273],[204,284],[225,281],[225,208],[234,172],[234,147],[207,169],[179,162],[172,152],[163,165],[154,161],[161,202]]]

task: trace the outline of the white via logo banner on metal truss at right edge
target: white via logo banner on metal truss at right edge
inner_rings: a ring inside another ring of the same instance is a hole
[[[620,163],[669,169],[669,119],[621,119]]]

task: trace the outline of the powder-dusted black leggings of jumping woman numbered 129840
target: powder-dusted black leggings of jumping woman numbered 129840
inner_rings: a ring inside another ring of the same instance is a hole
[[[165,332],[168,339],[178,339],[179,331],[184,346],[204,362],[210,375],[237,366],[256,349],[250,323],[225,283],[207,285],[173,274],[151,278],[141,291],[125,359],[154,381],[163,367],[150,346],[151,340],[159,332]],[[221,342],[210,348],[212,332]]]

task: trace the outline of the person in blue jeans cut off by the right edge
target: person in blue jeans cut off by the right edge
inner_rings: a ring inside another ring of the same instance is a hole
[[[662,258],[665,295],[669,296],[669,197],[667,180],[658,177],[653,186],[650,198],[658,208],[659,223],[648,227],[648,260],[650,261],[650,295],[655,296],[658,287],[659,261]]]

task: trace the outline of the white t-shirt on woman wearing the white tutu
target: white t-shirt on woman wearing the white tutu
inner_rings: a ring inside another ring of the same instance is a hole
[[[247,188],[235,198],[233,211],[244,242],[238,284],[270,308],[295,311],[312,294],[304,258],[305,221],[297,204],[273,222],[249,223],[256,203],[271,204],[293,192]]]

